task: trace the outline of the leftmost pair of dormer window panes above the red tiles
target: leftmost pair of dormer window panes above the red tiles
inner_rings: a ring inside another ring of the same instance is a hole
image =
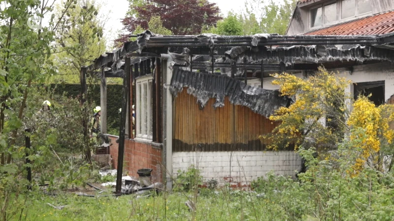
[[[324,4],[310,10],[311,28],[326,25],[337,20],[336,2]]]

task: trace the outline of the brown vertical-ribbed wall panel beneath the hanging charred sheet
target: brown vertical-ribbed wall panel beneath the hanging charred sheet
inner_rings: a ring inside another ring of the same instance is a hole
[[[263,150],[259,136],[277,125],[244,106],[230,104],[226,97],[223,108],[213,108],[210,99],[200,110],[197,99],[185,88],[174,102],[173,151]]]

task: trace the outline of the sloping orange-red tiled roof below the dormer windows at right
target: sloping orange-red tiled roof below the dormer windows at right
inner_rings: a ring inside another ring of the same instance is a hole
[[[394,32],[394,11],[313,30],[308,35],[373,35]]]

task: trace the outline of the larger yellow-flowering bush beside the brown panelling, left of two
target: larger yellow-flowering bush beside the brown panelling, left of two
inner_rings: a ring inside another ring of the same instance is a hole
[[[287,148],[290,145],[318,145],[330,147],[342,136],[338,132],[347,127],[344,114],[346,110],[345,90],[350,83],[344,78],[338,78],[326,69],[319,71],[307,79],[298,78],[292,74],[275,74],[273,84],[280,86],[283,96],[295,98],[290,107],[282,107],[269,117],[279,121],[271,134],[260,138],[271,140],[270,149]],[[322,122],[334,125],[326,128]]]

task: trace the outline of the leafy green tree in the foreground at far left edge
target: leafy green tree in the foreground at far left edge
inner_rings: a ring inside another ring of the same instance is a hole
[[[17,145],[17,138],[24,135],[20,128],[31,85],[55,74],[49,58],[60,22],[50,19],[49,27],[42,27],[51,6],[49,0],[0,2],[0,220],[12,219],[15,214],[7,213],[9,207],[23,204],[14,196],[26,191],[29,184],[22,177],[30,165],[23,164],[26,150]]]

